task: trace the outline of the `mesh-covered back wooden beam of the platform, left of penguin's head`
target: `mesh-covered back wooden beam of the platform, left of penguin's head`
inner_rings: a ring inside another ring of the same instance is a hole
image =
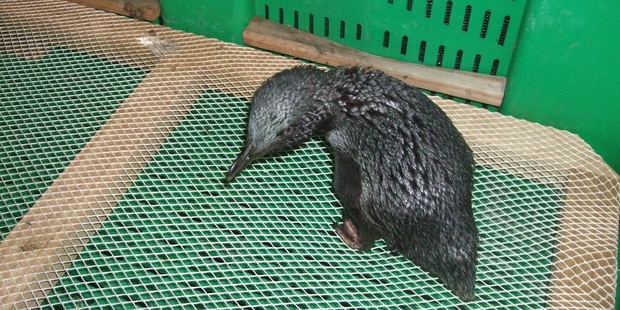
[[[168,42],[175,48],[167,54],[186,53],[183,62],[191,63],[189,69],[213,70],[214,77],[205,79],[202,86],[244,99],[251,98],[254,89],[269,76],[302,64],[66,1],[0,1],[0,20],[5,22],[0,27],[0,50],[29,59],[40,59],[47,49],[59,46],[136,69],[151,70],[162,56],[157,56],[149,43]],[[218,81],[215,76],[222,80]]]

